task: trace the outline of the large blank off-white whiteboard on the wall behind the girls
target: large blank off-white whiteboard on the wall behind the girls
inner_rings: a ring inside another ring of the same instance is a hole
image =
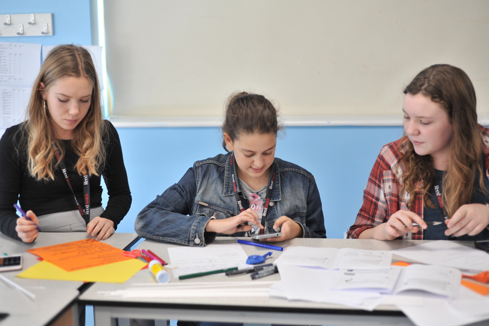
[[[282,116],[399,116],[423,68],[464,69],[489,114],[489,1],[104,1],[112,115],[218,117],[233,91]]]

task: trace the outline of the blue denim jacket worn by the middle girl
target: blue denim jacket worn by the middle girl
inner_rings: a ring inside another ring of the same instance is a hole
[[[275,220],[285,215],[304,230],[305,238],[325,238],[324,217],[316,182],[311,173],[295,164],[275,158],[276,181],[272,190],[265,228],[273,233]],[[236,164],[233,165],[234,174]],[[222,219],[240,213],[234,197],[230,154],[197,161],[177,184],[157,196],[139,214],[134,229],[141,237],[190,246],[204,246],[216,236],[244,237],[204,231],[211,218]],[[236,180],[238,181],[238,180]],[[248,199],[237,191],[245,209]]]

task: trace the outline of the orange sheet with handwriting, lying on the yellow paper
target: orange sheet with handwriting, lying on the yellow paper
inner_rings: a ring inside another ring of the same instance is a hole
[[[84,239],[25,251],[37,255],[66,271],[133,259],[122,256],[123,250],[94,239]]]

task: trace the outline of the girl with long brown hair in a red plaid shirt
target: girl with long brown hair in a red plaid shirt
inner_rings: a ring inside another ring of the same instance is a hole
[[[404,94],[404,136],[378,155],[348,237],[488,239],[489,129],[477,123],[472,82],[437,64]]]

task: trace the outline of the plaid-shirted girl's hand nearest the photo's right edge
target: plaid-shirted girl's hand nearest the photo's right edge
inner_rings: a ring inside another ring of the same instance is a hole
[[[467,204],[460,206],[452,218],[445,221],[448,230],[445,235],[454,234],[456,237],[468,234],[475,236],[489,224],[489,207],[482,204]]]

